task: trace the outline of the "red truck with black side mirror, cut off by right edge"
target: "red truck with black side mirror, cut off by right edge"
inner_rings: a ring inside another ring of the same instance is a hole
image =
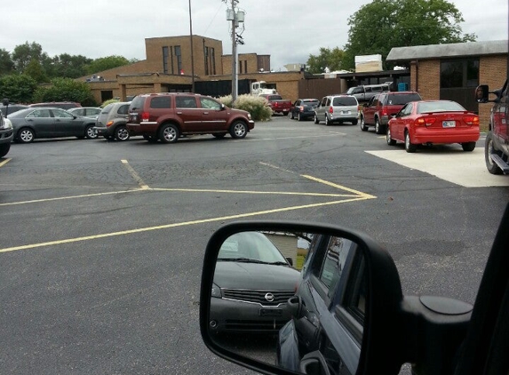
[[[495,94],[495,99],[489,99]],[[501,89],[489,92],[487,84],[475,91],[479,103],[493,103],[489,116],[489,132],[486,135],[484,158],[489,173],[509,174],[509,87],[507,80]]]

